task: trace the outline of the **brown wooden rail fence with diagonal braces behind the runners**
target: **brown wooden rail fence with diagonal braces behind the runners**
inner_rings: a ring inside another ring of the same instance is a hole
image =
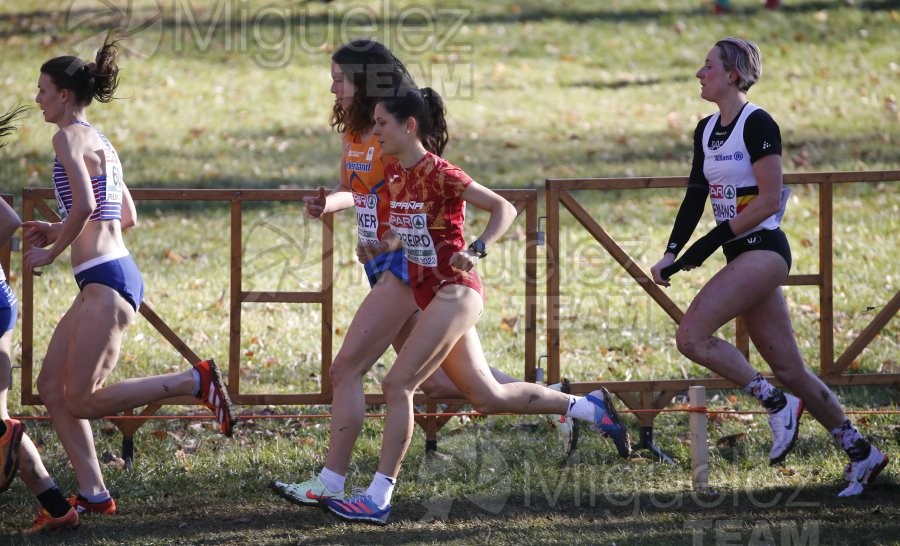
[[[859,184],[875,182],[896,182],[900,180],[900,171],[874,171],[855,173],[808,173],[785,175],[786,184],[808,184],[818,187],[819,192],[819,247],[818,271],[798,273],[788,277],[788,285],[816,286],[819,291],[820,326],[820,375],[831,385],[863,385],[863,384],[900,384],[900,374],[848,374],[845,373],[863,349],[890,322],[900,308],[900,292],[893,295],[884,308],[859,333],[859,335],[835,357],[833,323],[833,188],[838,184]],[[591,178],[591,179],[549,179],[544,191],[546,199],[546,339],[547,339],[547,375],[548,383],[559,382],[563,377],[560,362],[561,329],[558,313],[560,306],[560,273],[571,264],[566,263],[560,252],[560,214],[562,209],[568,210],[593,238],[612,256],[616,262],[646,291],[664,312],[678,323],[682,310],[652,282],[635,261],[607,233],[601,223],[591,217],[572,195],[573,191],[608,191],[608,190],[644,190],[658,188],[684,187],[685,177],[650,177],[650,178]],[[242,227],[244,204],[248,202],[297,202],[302,203],[305,196],[315,195],[315,190],[202,190],[202,189],[134,189],[131,191],[135,201],[218,201],[230,206],[230,288],[229,288],[229,353],[228,381],[235,404],[253,405],[305,405],[328,404],[331,400],[331,385],[328,368],[332,360],[333,331],[332,306],[334,276],[333,249],[333,217],[326,215],[322,226],[321,256],[321,289],[305,292],[278,291],[245,291],[242,287],[243,276],[243,237]],[[537,361],[537,266],[539,258],[537,247],[543,244],[538,231],[538,192],[536,190],[501,190],[499,192],[510,200],[524,215],[525,223],[525,270],[523,272],[525,288],[524,311],[524,363],[523,376],[528,381],[536,379]],[[56,212],[47,201],[53,199],[49,189],[23,190],[23,219],[33,219],[35,212],[48,220],[57,220]],[[602,219],[600,219],[602,221]],[[26,243],[27,246],[27,243]],[[8,269],[9,245],[0,249],[0,261]],[[22,275],[22,402],[23,404],[41,404],[40,397],[33,391],[33,298],[34,278],[30,274]],[[293,303],[321,305],[321,368],[320,389],[318,392],[306,393],[243,393],[241,392],[241,311],[244,305],[253,303]],[[176,328],[168,325],[157,315],[146,302],[140,313],[188,361],[196,362],[198,356],[188,343],[176,333]],[[745,355],[749,353],[749,337],[738,321],[736,327],[736,344]],[[653,420],[658,410],[665,408],[676,394],[686,391],[690,386],[703,385],[707,388],[732,388],[734,385],[718,377],[659,379],[648,381],[613,381],[613,382],[573,382],[574,393],[584,393],[604,386],[616,393],[623,402],[637,412],[641,425],[641,440],[638,447],[654,449],[652,444]],[[367,393],[368,404],[384,402],[380,393]],[[446,413],[457,411],[465,402],[460,400],[443,400],[447,403]],[[163,404],[195,404],[196,400],[180,397],[153,404],[143,409],[141,415],[151,417]],[[436,410],[436,401],[419,394],[416,403],[426,404],[426,413]],[[434,447],[437,431],[449,420],[449,417],[434,415],[417,415],[416,422],[425,430],[428,447]],[[143,420],[117,420],[116,425],[130,442],[133,433],[143,424]]]

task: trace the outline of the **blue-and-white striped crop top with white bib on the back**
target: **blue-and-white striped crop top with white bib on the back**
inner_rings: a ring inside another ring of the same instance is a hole
[[[76,121],[79,125],[94,129],[100,141],[103,143],[104,169],[100,176],[91,177],[91,189],[94,192],[94,200],[97,208],[91,213],[90,221],[121,220],[122,219],[122,191],[125,186],[125,177],[122,173],[122,163],[119,162],[119,154],[103,133],[83,121]],[[69,185],[69,175],[59,162],[53,160],[53,185],[56,190],[56,203],[59,206],[59,215],[65,219],[72,208],[72,188]]]

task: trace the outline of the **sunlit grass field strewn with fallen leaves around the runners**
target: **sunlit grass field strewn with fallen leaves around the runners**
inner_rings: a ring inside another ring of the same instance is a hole
[[[131,11],[123,43],[121,100],[94,105],[90,120],[121,154],[131,187],[314,188],[336,176],[338,138],[327,126],[328,58],[347,38],[388,43],[420,84],[448,98],[448,158],[493,187],[542,188],[547,178],[684,175],[696,122],[712,111],[694,73],[725,35],[756,40],[764,71],[750,98],[773,114],[787,172],[897,169],[900,113],[895,0],[786,0],[777,12],[734,0],[736,13],[708,14],[694,0],[603,3],[560,0],[438,3],[237,2],[228,0],[24,0],[0,6],[4,70],[0,108],[31,102],[40,64],[89,56],[118,17]],[[162,9],[160,9],[160,6]],[[157,18],[158,16],[158,18]],[[9,140],[0,190],[49,185],[53,127],[39,112]],[[900,198],[896,182],[836,189],[835,339],[859,334],[897,290]],[[679,191],[584,192],[579,201],[645,269],[661,252]],[[795,188],[785,229],[794,272],[817,267],[817,193]],[[543,204],[541,204],[543,209]],[[543,212],[542,212],[543,213]],[[225,361],[228,348],[227,204],[142,203],[128,245],[142,268],[147,300],[202,356]],[[707,220],[708,221],[708,220]],[[484,222],[473,213],[470,229]],[[352,255],[349,214],[336,219],[335,350],[365,294]],[[521,221],[484,265],[488,308],[479,324],[488,358],[521,374]],[[290,203],[251,207],[243,226],[245,283],[259,289],[318,286],[318,224]],[[674,325],[564,215],[563,374],[576,381],[698,377],[677,354]],[[268,252],[278,248],[278,252]],[[542,251],[543,252],[543,251]],[[272,264],[287,264],[287,269]],[[668,290],[684,308],[714,267],[685,274]],[[21,293],[20,256],[11,284]],[[245,289],[248,288],[245,284]],[[74,296],[63,258],[36,282],[35,359],[40,362],[58,302]],[[818,366],[818,294],[786,289],[810,366]],[[540,297],[540,296],[539,296]],[[245,306],[242,392],[317,391],[319,318],[315,305]],[[543,317],[545,310],[539,311]],[[896,321],[894,321],[896,322]],[[539,319],[538,331],[544,322]],[[726,328],[726,335],[731,335]],[[185,362],[140,320],[129,332],[112,381],[180,369]],[[539,335],[538,350],[545,346]],[[16,340],[18,344],[18,339]],[[14,352],[18,352],[17,346]],[[892,323],[854,371],[896,372]],[[388,353],[366,377],[377,392]],[[762,362],[754,355],[754,363]],[[20,376],[11,396],[21,406]],[[837,391],[864,434],[897,460],[900,423],[893,387]],[[758,409],[740,393],[710,392],[721,410]],[[683,397],[676,398],[676,406]],[[261,413],[326,413],[327,407],[242,407]],[[379,411],[383,408],[372,408]],[[167,408],[183,413],[195,408]],[[16,531],[36,502],[21,482],[0,496],[0,543],[42,544],[898,544],[900,489],[889,466],[881,484],[841,500],[843,455],[807,418],[797,452],[783,468],[766,464],[762,416],[720,413],[710,423],[709,495],[691,491],[687,415],[663,414],[656,441],[677,464],[647,452],[623,462],[599,438],[585,437],[563,463],[559,434],[543,418],[454,419],[439,436],[447,461],[424,456],[421,431],[400,476],[392,524],[351,527],[272,495],[273,478],[306,479],[322,465],[325,419],[241,422],[235,438],[209,421],[154,421],[137,436],[133,469],[121,468],[121,435],[97,422],[107,484],[121,505],[114,518],[90,518],[74,534],[26,539]],[[637,421],[625,418],[636,434]],[[75,483],[55,434],[28,423],[64,491]],[[369,419],[350,483],[374,471],[381,422]]]

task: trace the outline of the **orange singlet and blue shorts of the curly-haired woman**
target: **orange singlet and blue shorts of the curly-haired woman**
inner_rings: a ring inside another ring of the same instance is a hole
[[[341,183],[353,194],[359,241],[376,243],[390,227],[391,200],[384,165],[394,158],[382,158],[381,144],[374,135],[362,140],[356,135],[345,134],[343,144]],[[370,286],[374,286],[385,271],[391,271],[404,284],[409,284],[406,260],[400,250],[376,256],[365,264],[365,269]]]

